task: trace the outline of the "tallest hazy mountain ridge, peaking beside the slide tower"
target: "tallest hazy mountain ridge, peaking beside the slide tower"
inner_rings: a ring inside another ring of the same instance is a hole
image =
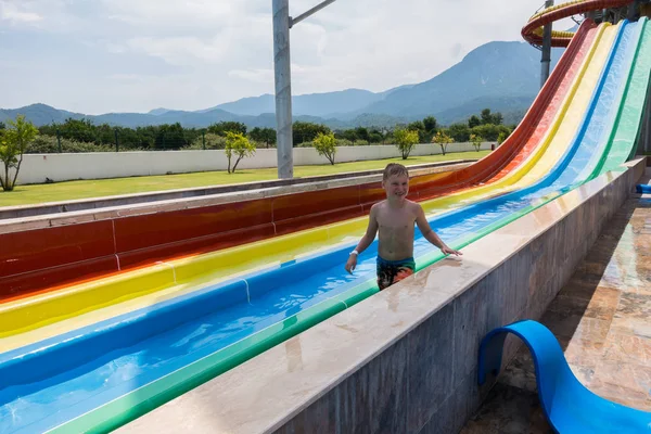
[[[561,53],[562,50],[552,50],[552,68]],[[295,95],[292,110],[296,116],[311,115],[345,122],[353,122],[368,113],[409,119],[434,114],[441,116],[442,123],[449,123],[477,113],[480,103],[486,104],[482,108],[523,113],[538,92],[539,77],[538,50],[526,42],[495,41],[471,51],[461,62],[431,80],[380,93],[348,89]],[[507,104],[508,100],[515,105]],[[275,100],[273,95],[264,94],[220,104],[216,108],[255,116],[273,113]]]

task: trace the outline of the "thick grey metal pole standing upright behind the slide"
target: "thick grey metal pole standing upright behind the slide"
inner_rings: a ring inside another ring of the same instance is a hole
[[[278,178],[294,177],[292,143],[292,72],[290,63],[290,1],[273,0],[273,67]]]

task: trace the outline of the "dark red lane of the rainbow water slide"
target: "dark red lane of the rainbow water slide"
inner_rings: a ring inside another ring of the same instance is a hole
[[[495,152],[463,170],[412,179],[410,197],[425,200],[490,183],[519,167],[569,99],[597,33],[589,21],[580,26],[523,122]],[[248,200],[237,206],[127,212],[97,221],[0,232],[0,245],[16,246],[0,251],[0,302],[363,216],[382,194],[376,183],[366,183]]]

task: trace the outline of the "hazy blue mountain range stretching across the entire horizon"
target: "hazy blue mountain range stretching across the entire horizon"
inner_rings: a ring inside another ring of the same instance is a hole
[[[552,67],[562,50],[552,50]],[[489,42],[461,62],[420,84],[384,92],[347,89],[294,95],[294,120],[315,122],[330,128],[391,127],[433,115],[441,124],[463,122],[483,108],[501,112],[505,123],[518,123],[539,89],[540,52],[525,42]],[[46,104],[0,108],[0,122],[22,113],[35,125],[89,118],[95,124],[124,127],[180,123],[207,127],[234,120],[254,127],[275,127],[273,95],[243,98],[212,108],[189,112],[154,108],[149,113],[107,113],[98,116],[58,110]]]

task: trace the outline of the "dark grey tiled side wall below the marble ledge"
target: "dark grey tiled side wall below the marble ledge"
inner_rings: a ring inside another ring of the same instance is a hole
[[[477,387],[481,339],[541,316],[639,175],[636,167],[608,183],[277,433],[458,432],[492,386]],[[507,340],[505,363],[519,345]]]

